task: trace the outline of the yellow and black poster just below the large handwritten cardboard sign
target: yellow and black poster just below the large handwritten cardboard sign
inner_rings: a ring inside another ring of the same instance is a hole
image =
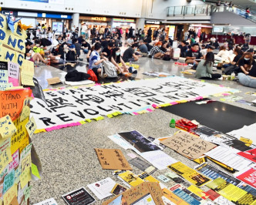
[[[173,163],[172,165],[168,166],[168,168],[180,176],[183,176],[184,179],[190,183],[193,183],[197,187],[201,187],[211,181],[211,179],[208,177],[198,173],[196,170],[181,162]]]

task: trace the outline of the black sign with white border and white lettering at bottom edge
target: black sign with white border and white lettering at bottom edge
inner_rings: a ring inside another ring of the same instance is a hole
[[[92,195],[90,195],[84,187],[79,190],[74,190],[72,192],[62,195],[63,200],[69,205],[77,204],[91,204],[95,201]]]

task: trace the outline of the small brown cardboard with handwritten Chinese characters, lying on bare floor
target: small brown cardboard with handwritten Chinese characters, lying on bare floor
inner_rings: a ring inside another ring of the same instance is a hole
[[[104,170],[133,170],[121,150],[99,148],[95,150]]]

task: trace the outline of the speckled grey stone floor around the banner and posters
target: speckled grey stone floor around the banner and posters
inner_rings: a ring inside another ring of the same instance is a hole
[[[150,76],[144,76],[142,74],[145,71],[169,72],[171,75],[183,76],[183,74],[180,74],[180,71],[184,70],[184,68],[175,66],[173,62],[142,58],[137,64],[140,65],[140,69],[138,70],[138,74],[133,75],[137,79],[150,78]],[[82,72],[86,71],[86,65],[79,64],[78,69]],[[43,89],[52,87],[48,86],[46,79],[56,76],[64,79],[65,75],[66,68],[56,69],[52,66],[39,66],[35,69],[35,77],[39,79]],[[184,77],[194,78],[193,76]],[[211,82],[241,90],[241,92],[235,95],[242,96],[245,100],[252,101],[255,99],[255,96],[249,96],[245,92],[255,92],[256,90],[241,86],[238,82],[222,80]],[[59,84],[58,86],[64,85]],[[220,100],[219,97],[215,97],[214,99]],[[227,103],[256,111],[255,107],[252,106],[237,102]],[[79,187],[86,187],[87,184],[103,180],[108,176],[120,183],[120,180],[112,176],[112,170],[102,170],[94,148],[120,149],[120,146],[113,143],[107,136],[133,129],[143,133],[144,136],[153,136],[155,138],[169,136],[177,131],[177,129],[171,129],[169,127],[170,119],[172,118],[180,119],[180,116],[174,116],[171,113],[157,109],[152,113],[143,115],[117,116],[113,119],[101,120],[100,122],[86,123],[83,126],[35,134],[32,137],[32,142],[42,161],[43,171],[42,180],[32,182],[33,187],[30,203],[38,203],[39,201],[54,197],[58,204],[65,204],[61,198],[62,194],[76,190]],[[131,153],[131,151],[123,149],[122,151],[126,159],[130,160],[130,156],[127,156],[127,153]],[[196,165],[196,163],[187,160],[173,150],[166,148],[164,152],[184,162],[188,166],[194,167]],[[134,167],[133,172],[136,174],[141,173],[136,167]],[[167,170],[157,171],[153,173],[153,176],[158,176],[160,173],[166,172]],[[167,183],[166,185],[170,186],[172,183]],[[96,204],[100,204],[99,200]]]

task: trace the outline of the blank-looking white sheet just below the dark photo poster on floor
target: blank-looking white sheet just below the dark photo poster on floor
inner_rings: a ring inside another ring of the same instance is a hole
[[[167,166],[171,165],[172,163],[177,163],[177,160],[160,150],[140,153],[140,156],[142,156],[149,163],[152,163],[153,166],[155,166],[158,170],[167,169]]]

